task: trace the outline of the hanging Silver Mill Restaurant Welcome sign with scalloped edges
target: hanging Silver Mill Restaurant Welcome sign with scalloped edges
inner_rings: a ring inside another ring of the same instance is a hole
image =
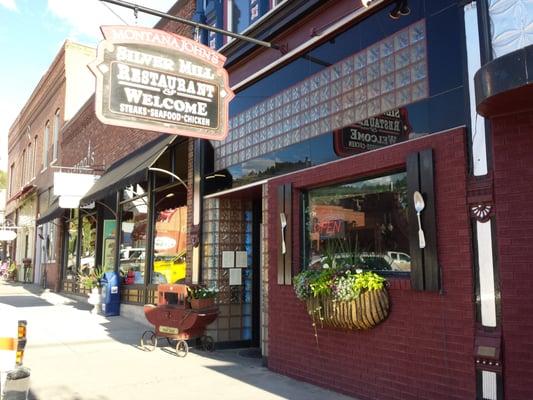
[[[103,26],[89,65],[96,116],[105,124],[222,140],[234,94],[226,58],[191,39],[157,29]]]

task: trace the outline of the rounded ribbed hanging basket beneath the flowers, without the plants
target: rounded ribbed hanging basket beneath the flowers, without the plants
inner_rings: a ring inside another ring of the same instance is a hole
[[[335,301],[330,296],[306,300],[313,322],[321,327],[341,329],[371,329],[389,315],[389,295],[386,288],[361,293],[352,301]]]

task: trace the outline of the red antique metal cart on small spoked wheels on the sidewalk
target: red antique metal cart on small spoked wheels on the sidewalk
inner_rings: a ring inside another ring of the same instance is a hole
[[[168,344],[175,347],[179,357],[189,352],[187,340],[197,339],[206,351],[214,350],[211,336],[204,334],[205,327],[218,316],[218,308],[208,305],[193,309],[187,301],[187,285],[161,284],[157,287],[157,305],[146,304],[144,315],[155,327],[155,331],[147,330],[141,337],[141,347],[153,351],[159,338],[166,338]]]

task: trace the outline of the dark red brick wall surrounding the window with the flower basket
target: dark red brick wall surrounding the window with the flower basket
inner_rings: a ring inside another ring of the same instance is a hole
[[[293,265],[299,266],[300,204],[297,191],[397,170],[408,153],[433,148],[438,256],[444,293],[415,292],[407,279],[392,279],[389,318],[369,331],[319,329],[292,286],[278,285],[278,247],[270,246],[269,358],[274,371],[360,399],[473,399],[475,314],[470,222],[466,202],[465,131],[455,129],[365,153],[269,183],[270,220],[277,214],[277,186],[292,182]],[[269,235],[279,240],[277,225]]]

